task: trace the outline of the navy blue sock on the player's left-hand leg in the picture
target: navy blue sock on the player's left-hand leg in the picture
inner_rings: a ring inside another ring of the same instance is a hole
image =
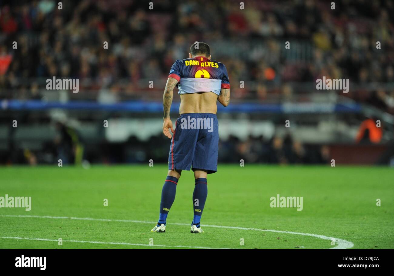
[[[167,175],[162,189],[162,201],[160,202],[160,215],[158,226],[165,225],[168,212],[174,203],[175,192],[177,191],[178,178]]]

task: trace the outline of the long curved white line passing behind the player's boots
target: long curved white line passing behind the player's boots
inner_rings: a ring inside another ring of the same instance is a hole
[[[52,217],[52,216],[40,216],[40,215],[0,215],[0,217],[35,217],[41,219],[75,219],[75,220],[82,220],[82,221],[116,221],[116,222],[126,222],[126,223],[148,223],[154,224],[156,222],[152,221],[134,221],[128,219],[95,219],[91,217]],[[188,223],[170,223],[174,225],[188,225]],[[319,239],[325,239],[331,241],[335,239],[336,247],[332,247],[330,249],[347,249],[354,246],[351,241],[346,241],[344,239],[337,239],[334,237],[328,237],[324,235],[317,235],[317,234],[310,234],[310,233],[300,233],[300,232],[291,232],[291,231],[280,231],[280,230],[270,230],[270,229],[258,229],[258,228],[245,228],[245,227],[236,227],[236,226],[220,226],[220,225],[206,225],[201,224],[204,227],[215,227],[215,228],[229,228],[229,229],[237,229],[237,230],[255,230],[255,231],[263,231],[263,232],[274,232],[274,233],[284,233],[284,234],[294,234],[294,235],[301,235],[301,236],[309,236],[309,237],[317,237]],[[57,240],[56,240],[57,241]],[[99,243],[99,242],[98,242]],[[131,244],[129,244],[131,245]],[[188,247],[190,248],[190,247]]]

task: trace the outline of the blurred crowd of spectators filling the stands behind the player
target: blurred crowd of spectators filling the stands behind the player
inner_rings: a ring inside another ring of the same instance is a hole
[[[150,10],[133,0],[67,1],[62,9],[53,0],[10,2],[0,14],[0,96],[40,99],[45,79],[58,76],[80,79],[83,95],[67,99],[160,99],[172,63],[206,41],[227,65],[234,99],[316,92],[286,83],[324,75],[359,83],[348,94],[357,101],[394,109],[394,89],[380,85],[394,82],[392,1],[342,0],[335,9],[313,0],[247,1],[245,9],[234,1],[196,3],[154,1]],[[148,80],[158,85],[149,90]]]

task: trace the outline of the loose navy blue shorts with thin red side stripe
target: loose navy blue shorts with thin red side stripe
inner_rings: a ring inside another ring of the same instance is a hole
[[[217,171],[219,124],[216,114],[186,113],[175,122],[168,169]]]

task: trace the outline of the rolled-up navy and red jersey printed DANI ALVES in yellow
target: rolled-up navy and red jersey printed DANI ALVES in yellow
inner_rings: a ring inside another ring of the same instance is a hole
[[[226,66],[206,57],[178,59],[171,67],[168,77],[178,80],[178,94],[214,92],[230,89]]]

